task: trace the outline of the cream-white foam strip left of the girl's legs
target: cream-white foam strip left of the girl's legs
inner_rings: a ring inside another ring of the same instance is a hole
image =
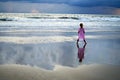
[[[12,42],[18,44],[30,44],[30,43],[51,43],[51,42],[64,42],[74,41],[76,37],[65,36],[48,36],[48,37],[0,37],[0,42]]]

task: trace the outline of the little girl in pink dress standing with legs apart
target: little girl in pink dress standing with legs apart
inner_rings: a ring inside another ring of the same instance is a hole
[[[85,30],[83,28],[83,23],[80,23],[80,28],[78,29],[78,39],[77,39],[77,44],[78,44],[78,41],[82,39],[85,44],[87,44],[86,40],[85,40]]]

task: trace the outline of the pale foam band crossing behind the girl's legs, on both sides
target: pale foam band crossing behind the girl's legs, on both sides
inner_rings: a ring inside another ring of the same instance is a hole
[[[120,39],[118,35],[87,35],[86,39]],[[17,44],[37,44],[37,43],[55,43],[55,42],[76,42],[77,36],[47,36],[47,37],[0,37],[0,42],[12,42]]]

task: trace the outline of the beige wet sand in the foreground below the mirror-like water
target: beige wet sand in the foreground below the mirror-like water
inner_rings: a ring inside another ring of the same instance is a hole
[[[1,65],[0,80],[119,80],[120,66],[82,65],[77,68],[56,65],[53,71],[24,65]]]

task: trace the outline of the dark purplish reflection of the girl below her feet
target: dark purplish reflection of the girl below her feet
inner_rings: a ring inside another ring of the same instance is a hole
[[[79,47],[79,44],[77,43],[79,62],[82,62],[84,59],[85,46],[86,44],[84,44],[83,47]]]

